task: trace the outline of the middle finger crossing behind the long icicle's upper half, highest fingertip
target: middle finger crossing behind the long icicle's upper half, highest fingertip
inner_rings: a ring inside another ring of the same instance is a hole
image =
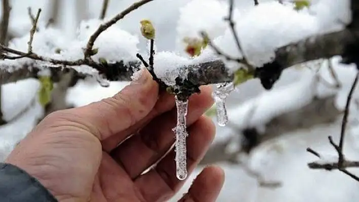
[[[191,125],[212,105],[211,88],[202,89],[201,94],[189,100],[187,125]],[[175,127],[176,110],[164,113],[143,128],[139,135],[133,136],[111,152],[122,164],[128,175],[134,179],[161,158],[174,142],[171,130]],[[191,134],[202,135],[202,134]],[[135,161],[133,159],[136,159]]]

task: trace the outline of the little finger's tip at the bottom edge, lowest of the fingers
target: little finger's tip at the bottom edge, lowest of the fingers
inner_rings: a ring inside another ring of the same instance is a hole
[[[224,171],[216,166],[210,166],[197,176],[188,193],[178,202],[214,202],[224,184]]]

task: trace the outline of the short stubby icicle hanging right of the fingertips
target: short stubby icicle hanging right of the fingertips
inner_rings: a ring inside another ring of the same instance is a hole
[[[214,102],[217,108],[217,121],[219,126],[226,126],[228,122],[228,115],[226,110],[226,98],[230,92],[234,90],[233,83],[218,84],[217,90],[212,93]]]

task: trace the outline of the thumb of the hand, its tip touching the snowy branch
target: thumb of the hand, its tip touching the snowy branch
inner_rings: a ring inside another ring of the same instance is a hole
[[[99,140],[127,129],[151,111],[158,97],[158,85],[151,74],[147,69],[140,71],[140,77],[115,96],[64,110],[60,116],[81,124]]]

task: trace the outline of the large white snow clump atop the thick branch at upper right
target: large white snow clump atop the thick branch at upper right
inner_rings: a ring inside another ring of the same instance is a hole
[[[256,66],[271,61],[277,48],[313,35],[319,27],[315,16],[278,2],[249,8],[234,21],[244,54]],[[232,57],[242,57],[230,29],[213,43]]]

